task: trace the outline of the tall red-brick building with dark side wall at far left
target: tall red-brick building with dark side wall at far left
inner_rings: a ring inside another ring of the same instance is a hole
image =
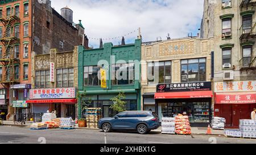
[[[51,1],[0,1],[0,110],[6,118],[14,113],[31,114],[26,104],[31,89],[32,54],[88,48],[84,27],[73,23],[51,7]]]

